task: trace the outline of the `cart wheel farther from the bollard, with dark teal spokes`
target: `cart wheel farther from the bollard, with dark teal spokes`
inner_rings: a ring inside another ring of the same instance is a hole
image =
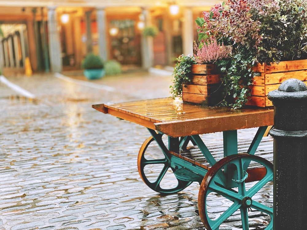
[[[167,142],[167,138],[164,142]],[[147,138],[138,153],[138,172],[143,182],[158,193],[179,192],[192,182],[177,179],[174,170],[153,137]]]

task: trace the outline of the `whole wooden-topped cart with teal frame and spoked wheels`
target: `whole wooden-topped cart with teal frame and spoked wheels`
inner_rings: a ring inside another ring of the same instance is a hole
[[[259,199],[259,193],[272,199],[263,193],[268,187],[272,193],[273,140],[263,137],[267,127],[273,125],[272,108],[232,110],[173,98],[99,104],[93,108],[149,130],[151,136],[139,151],[138,171],[151,189],[176,193],[192,182],[200,183],[198,208],[206,229],[220,229],[238,213],[243,230],[250,229],[249,219],[259,213],[265,216],[258,221],[261,229],[273,228],[272,203]],[[259,127],[253,139],[238,141],[238,129],[253,127]],[[223,146],[206,145],[200,136],[214,132],[223,132]],[[174,184],[167,179],[171,176]],[[164,180],[167,183],[162,186]],[[212,196],[229,201],[218,215],[211,213]]]

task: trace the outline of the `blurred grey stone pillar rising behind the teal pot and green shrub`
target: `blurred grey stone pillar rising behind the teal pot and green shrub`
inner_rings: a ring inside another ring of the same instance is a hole
[[[98,45],[99,56],[107,61],[108,49],[107,49],[107,19],[106,12],[103,8],[97,9],[97,23],[98,23]]]

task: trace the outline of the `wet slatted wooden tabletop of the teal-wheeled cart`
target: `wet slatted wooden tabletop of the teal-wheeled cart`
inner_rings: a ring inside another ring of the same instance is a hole
[[[157,98],[92,106],[103,113],[132,121],[171,137],[253,128],[274,124],[274,109],[232,110],[183,103],[181,99]]]

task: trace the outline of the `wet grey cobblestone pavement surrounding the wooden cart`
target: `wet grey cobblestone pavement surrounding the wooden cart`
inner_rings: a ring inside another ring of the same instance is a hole
[[[6,78],[36,98],[0,83],[0,229],[204,229],[199,184],[169,195],[148,188],[137,155],[149,132],[91,108],[168,97],[171,76],[137,72],[91,81],[114,91],[51,74]],[[221,135],[203,138],[220,142]]]

